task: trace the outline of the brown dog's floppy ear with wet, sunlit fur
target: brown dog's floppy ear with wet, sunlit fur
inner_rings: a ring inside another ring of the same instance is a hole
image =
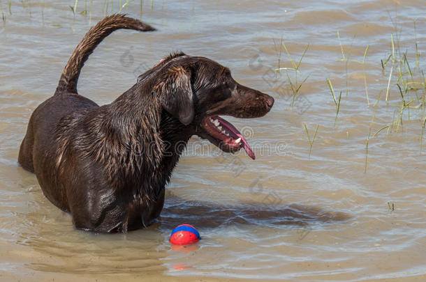
[[[194,116],[193,93],[191,87],[191,70],[177,65],[163,73],[154,91],[161,100],[163,109],[179,118],[184,125],[189,125]]]

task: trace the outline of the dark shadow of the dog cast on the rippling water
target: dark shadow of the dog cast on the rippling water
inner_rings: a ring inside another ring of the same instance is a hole
[[[186,201],[168,191],[161,217],[154,226],[168,230],[188,222],[197,228],[245,224],[269,227],[307,226],[331,224],[348,219],[351,219],[351,216],[344,212],[323,210],[315,206],[263,203],[219,205],[207,201]]]

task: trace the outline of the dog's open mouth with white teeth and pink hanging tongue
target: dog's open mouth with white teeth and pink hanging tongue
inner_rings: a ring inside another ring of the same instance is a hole
[[[256,159],[253,150],[251,150],[249,143],[244,139],[241,132],[223,118],[219,116],[207,116],[201,122],[201,127],[209,135],[208,137],[210,138],[208,139],[221,148],[221,150],[225,152],[237,152],[241,148],[244,148],[251,159]]]

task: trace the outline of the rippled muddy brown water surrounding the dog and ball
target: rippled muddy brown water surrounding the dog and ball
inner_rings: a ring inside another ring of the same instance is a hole
[[[128,4],[126,13],[159,31],[110,36],[83,68],[80,94],[111,102],[168,52],[183,50],[227,65],[235,79],[276,102],[264,118],[229,118],[256,161],[244,152],[222,155],[194,138],[167,188],[161,219],[126,235],[74,230],[71,217],[16,162],[31,112],[52,95],[73,48],[106,13],[104,1],[92,7],[87,1],[81,15],[85,1],[79,1],[74,16],[73,2],[12,1],[9,11],[8,1],[0,1],[6,18],[0,29],[1,281],[425,281],[423,1],[144,1],[142,10],[139,1]],[[112,2],[117,12],[119,1]],[[391,58],[382,70],[381,60],[392,54],[391,34],[395,63],[392,68]],[[294,85],[296,72],[273,71],[294,68],[281,39],[295,63],[309,44],[298,84],[308,78],[293,105],[288,77]],[[398,65],[404,52],[413,78]],[[337,120],[325,79],[337,103],[342,91]],[[423,90],[405,94],[413,107],[399,118],[396,84],[404,79]],[[310,154],[305,125],[310,139],[318,125]],[[203,240],[173,249],[168,236],[183,223],[196,226]]]

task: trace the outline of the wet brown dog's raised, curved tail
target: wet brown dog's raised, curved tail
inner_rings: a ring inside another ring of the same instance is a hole
[[[138,19],[126,17],[126,15],[111,15],[105,17],[98,22],[96,26],[92,27],[89,32],[86,33],[85,37],[75,47],[71,58],[62,72],[61,79],[56,89],[56,93],[69,92],[77,93],[77,81],[80,76],[80,71],[85,65],[85,61],[89,55],[94,51],[96,46],[103,40],[103,38],[109,36],[112,31],[117,29],[134,29],[136,31],[155,31],[152,26],[140,22]]]

